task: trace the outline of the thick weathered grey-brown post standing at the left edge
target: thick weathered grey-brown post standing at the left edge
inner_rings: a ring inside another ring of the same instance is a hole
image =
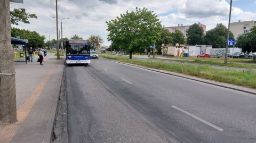
[[[10,1],[0,0],[0,124],[17,121]]]

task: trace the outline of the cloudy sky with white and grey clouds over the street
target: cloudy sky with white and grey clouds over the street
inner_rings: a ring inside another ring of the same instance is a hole
[[[57,39],[55,0],[23,0],[23,4],[10,3],[11,10],[24,8],[26,12],[35,13],[37,19],[29,19],[30,24],[19,23],[20,29],[36,31],[46,40]],[[231,22],[256,21],[256,0],[233,0]],[[135,11],[135,7],[146,7],[158,15],[164,27],[202,23],[206,31],[217,23],[228,27],[230,0],[58,0],[58,17],[62,19],[63,38],[78,35],[83,39],[99,35],[104,43],[107,41],[106,21],[116,19],[121,13]],[[59,28],[60,19],[59,20]],[[47,33],[45,33],[47,32]]]

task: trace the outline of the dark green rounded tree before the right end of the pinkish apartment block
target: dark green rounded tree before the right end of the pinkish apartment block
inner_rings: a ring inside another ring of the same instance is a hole
[[[197,23],[194,23],[186,31],[187,44],[189,45],[202,45],[204,44],[204,29]]]

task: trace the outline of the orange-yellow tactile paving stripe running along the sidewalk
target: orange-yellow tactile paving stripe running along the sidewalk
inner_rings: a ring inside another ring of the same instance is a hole
[[[17,122],[11,125],[6,125],[0,131],[0,143],[9,143],[14,138],[15,134],[19,130],[23,121],[25,121],[28,113],[30,112],[32,106],[35,104],[37,98],[41,94],[44,89],[46,83],[52,77],[52,74],[57,69],[57,66],[53,66],[53,68],[47,73],[45,78],[39,83],[39,85],[35,88],[32,94],[29,95],[27,100],[20,106],[17,110]]]

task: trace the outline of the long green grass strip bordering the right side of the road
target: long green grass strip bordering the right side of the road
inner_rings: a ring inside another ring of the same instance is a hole
[[[110,60],[115,60],[115,61],[124,62],[124,63],[141,65],[148,68],[183,73],[187,75],[193,75],[199,78],[210,79],[210,80],[224,82],[224,83],[231,83],[237,86],[256,88],[256,72],[253,72],[250,70],[246,70],[246,71],[223,70],[223,69],[212,68],[207,65],[202,66],[202,65],[187,65],[187,64],[178,64],[178,63],[156,62],[151,60],[146,61],[146,60],[130,59],[123,56],[113,56],[113,55],[106,55],[106,54],[100,54],[100,57],[108,58]]]

